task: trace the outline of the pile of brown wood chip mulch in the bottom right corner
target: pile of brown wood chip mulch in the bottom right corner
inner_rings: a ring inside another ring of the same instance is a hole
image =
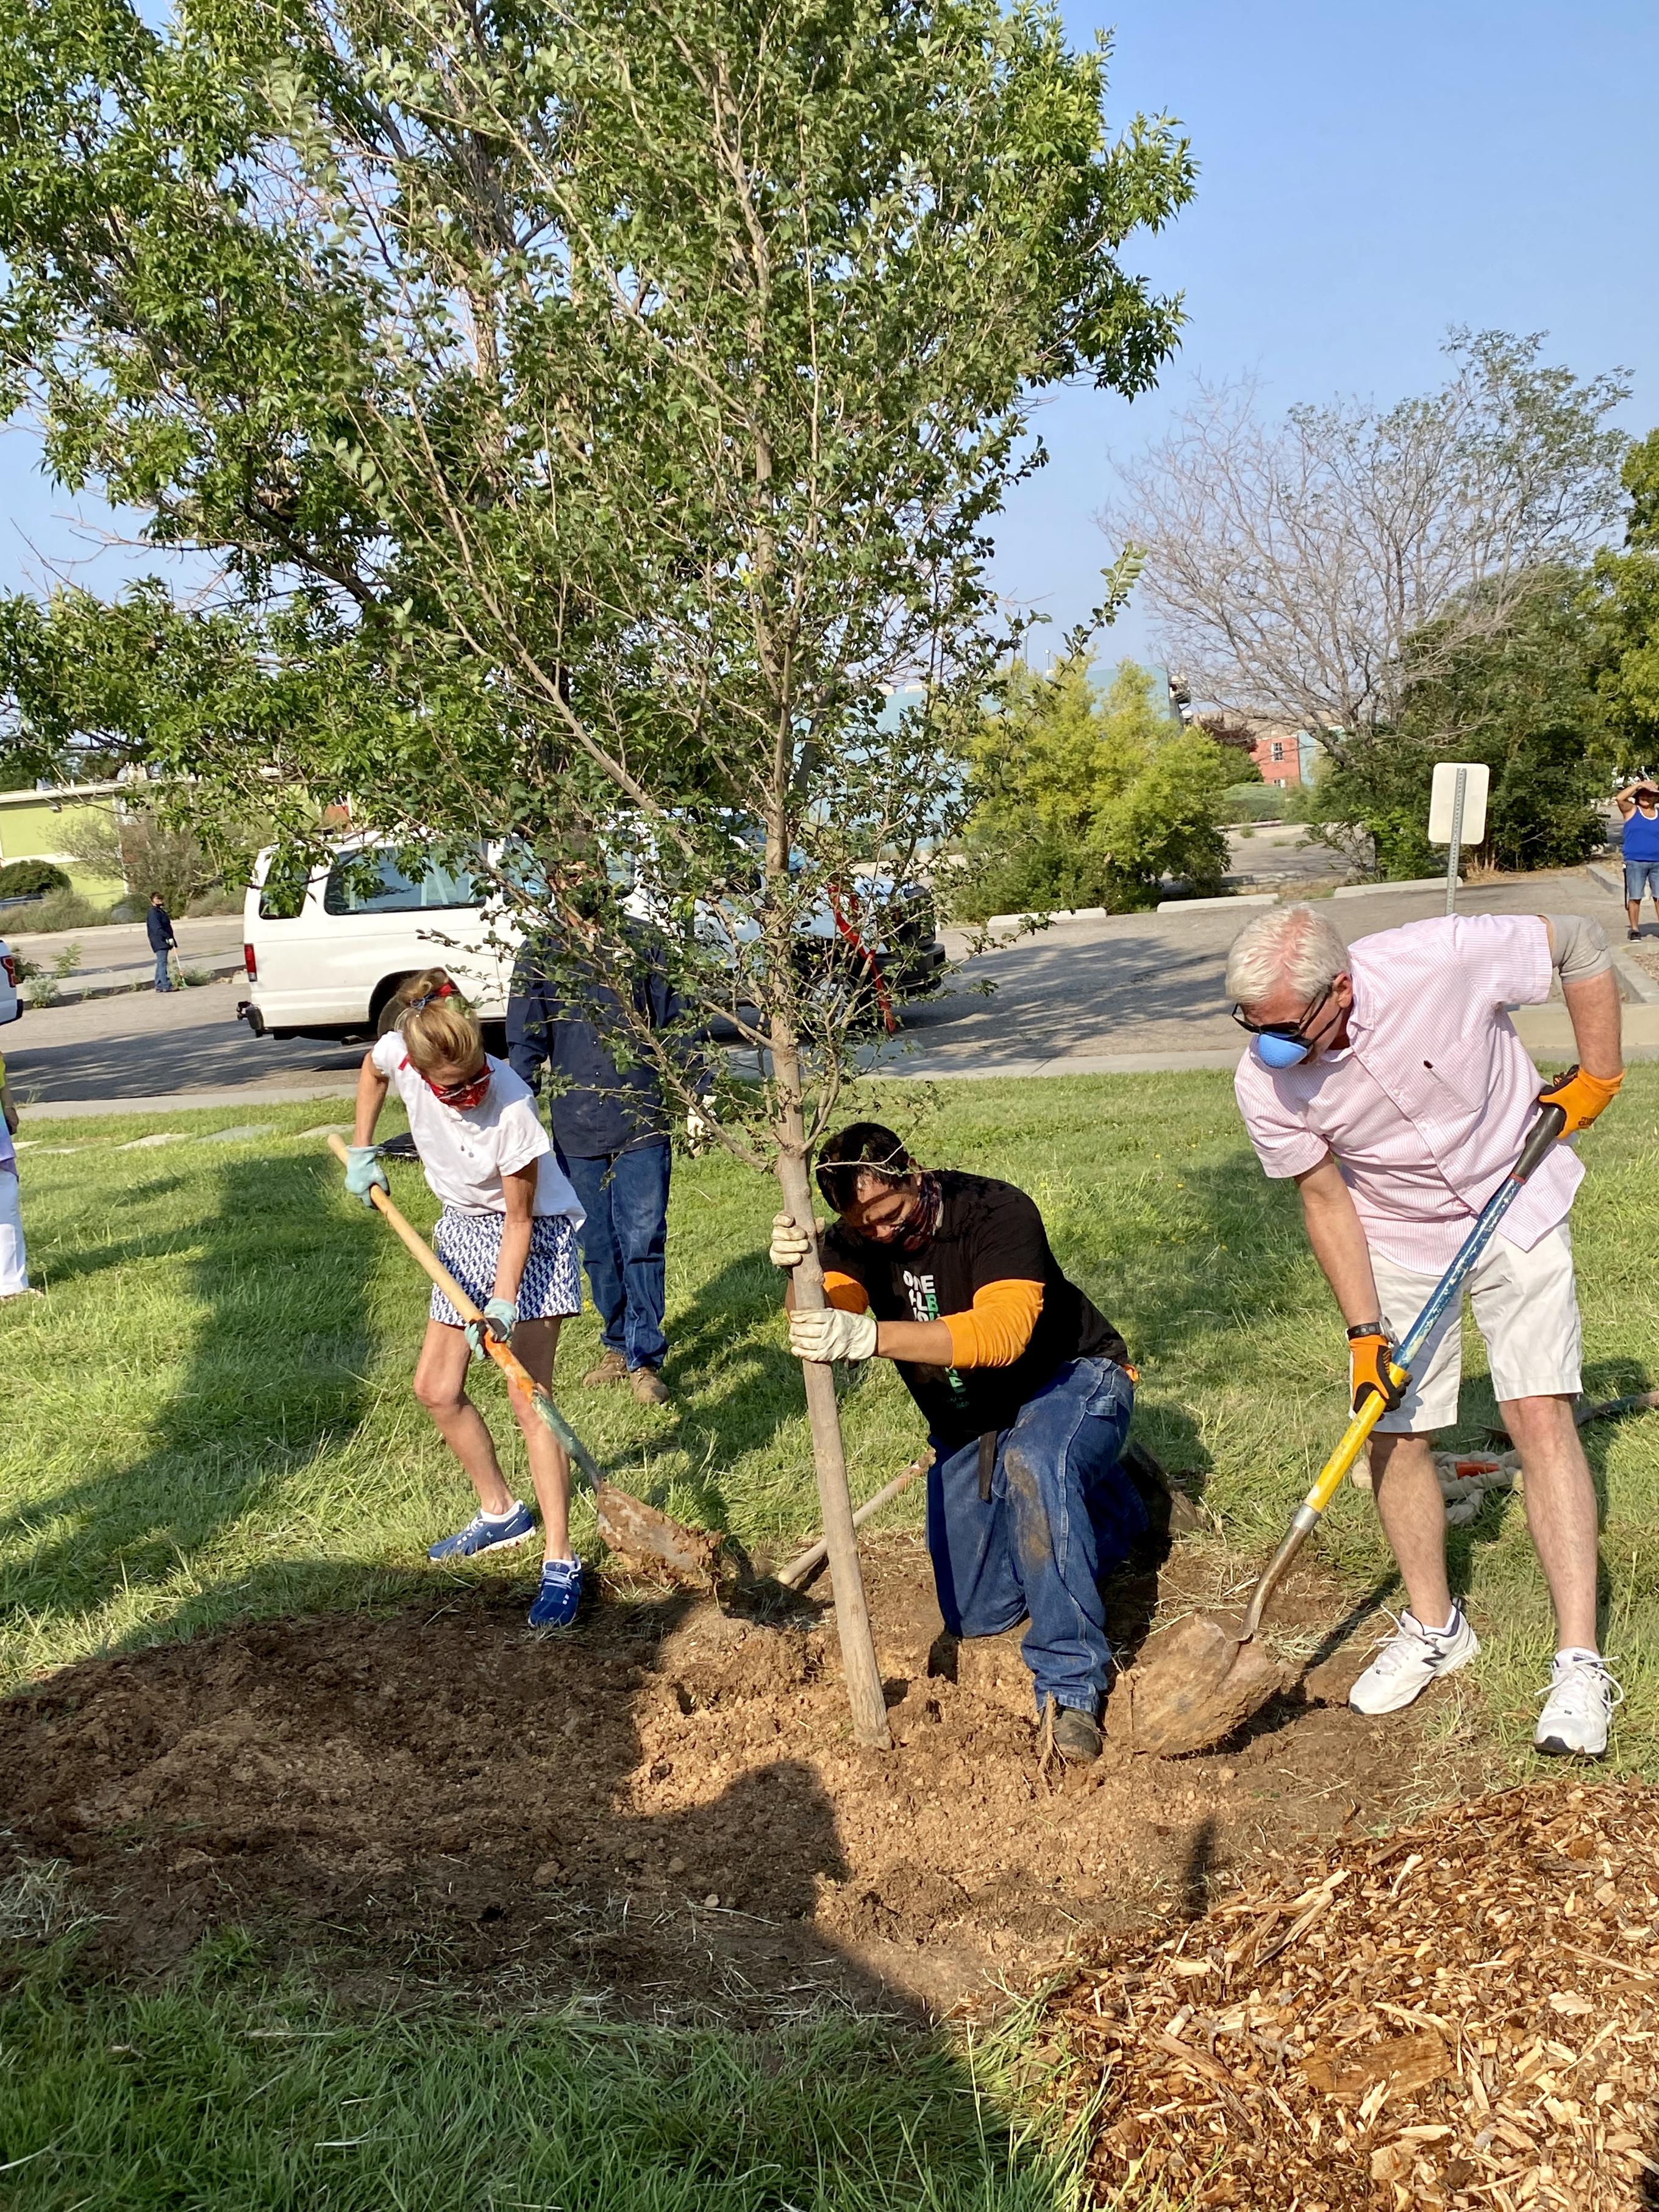
[[[1659,1790],[1334,1845],[1055,1991],[1097,2205],[1659,2205]]]

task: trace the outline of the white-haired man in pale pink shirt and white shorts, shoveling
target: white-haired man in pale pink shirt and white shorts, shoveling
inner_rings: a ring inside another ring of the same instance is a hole
[[[1506,1006],[1553,978],[1579,1064],[1544,1086]],[[1409,922],[1345,947],[1305,905],[1252,920],[1228,958],[1234,1020],[1252,1031],[1234,1091],[1270,1177],[1292,1177],[1314,1256],[1347,1323],[1354,1409],[1376,1391],[1371,1482],[1409,1610],[1349,1692],[1398,1712],[1480,1650],[1447,1584],[1431,1440],[1458,1418],[1460,1312],[1429,1340],[1405,1400],[1387,1354],[1515,1164],[1540,1102],[1588,1128],[1624,1082],[1606,933],[1579,916],[1482,914]],[[1555,1606],[1540,1752],[1599,1759],[1619,1688],[1597,1646],[1597,1506],[1573,1425],[1579,1312],[1566,1214],[1584,1175],[1557,1144],[1482,1254],[1469,1296],[1498,1409],[1522,1455],[1526,1526]]]

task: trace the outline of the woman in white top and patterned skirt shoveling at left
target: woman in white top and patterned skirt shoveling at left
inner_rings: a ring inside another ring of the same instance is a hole
[[[363,1060],[356,1086],[356,1141],[345,1188],[372,1206],[387,1175],[374,1124],[396,1084],[420,1166],[442,1214],[434,1250],[484,1318],[462,1327],[434,1285],[414,1394],[471,1475],[478,1513],[442,1537],[429,1559],[471,1559],[498,1544],[522,1544],[535,1515],[502,1480],[495,1442],[467,1396],[467,1365],[482,1358],[482,1336],[511,1338],[535,1380],[551,1389],[560,1318],[582,1312],[575,1232],[582,1206],[542,1128],[531,1086],[504,1060],[484,1053],[467,1000],[442,969],[427,969],[398,993],[403,1011]],[[542,1509],[542,1584],[533,1628],[568,1628],[582,1604],[582,1562],[571,1553],[571,1462],[535,1411],[513,1391],[524,1431],[535,1502]]]

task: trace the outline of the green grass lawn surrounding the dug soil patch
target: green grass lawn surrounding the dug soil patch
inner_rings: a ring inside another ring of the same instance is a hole
[[[1225,1531],[1210,1542],[1230,1544],[1241,1573],[1259,1564],[1343,1429],[1345,1345],[1294,1192],[1256,1170],[1228,1077],[887,1086],[876,1104],[927,1159],[1033,1192],[1062,1263],[1141,1367],[1141,1433],[1166,1464],[1201,1473]],[[1586,1389],[1597,1398],[1659,1380],[1657,1106],[1659,1068],[1632,1071],[1584,1148],[1575,1234]],[[31,1263],[49,1298],[0,1312],[9,1686],[237,1615],[378,1606],[431,1588],[425,1548],[467,1517],[471,1493],[409,1398],[425,1283],[341,1194],[321,1139],[299,1137],[332,1113],[31,1117],[22,1130],[35,1139],[22,1152]],[[237,1119],[270,1135],[201,1141]],[[157,1130],[184,1135],[122,1148]],[[420,1225],[431,1221],[418,1170],[394,1170],[394,1197]],[[765,1261],[772,1210],[772,1188],[723,1157],[679,1161],[668,1263],[677,1405],[653,1411],[575,1389],[597,1352],[591,1314],[568,1327],[557,1387],[624,1482],[781,1555],[812,1533],[816,1504],[799,1369]],[[1467,1378],[1460,1433],[1475,1440],[1493,1405],[1473,1332]],[[511,1442],[495,1380],[480,1394]],[[847,1389],[843,1413],[854,1489],[867,1495],[914,1455],[920,1429],[880,1365]],[[1659,1778],[1659,1416],[1586,1440],[1606,1500],[1606,1646],[1628,1692],[1617,1770]],[[896,1520],[907,1513],[920,1515],[914,1493],[894,1509]],[[591,1524],[577,1515],[584,1540]],[[1387,1573],[1369,1500],[1354,1491],[1318,1544],[1356,1590]],[[1517,1502],[1495,1500],[1460,1531],[1455,1568],[1486,1650],[1449,1710],[1520,1765],[1551,1637]],[[478,1573],[526,1584],[518,1555]],[[71,1978],[55,1980],[60,1971]],[[1020,2163],[995,2095],[960,2053],[867,2028],[836,2028],[834,2048],[799,2037],[779,2055],[560,2022],[338,2022],[319,1997],[290,1993],[283,2017],[316,2033],[296,2039],[283,2073],[276,2044],[243,2033],[248,2006],[276,2002],[263,1984],[139,1997],[88,1991],[77,1975],[53,1953],[18,1984],[0,2026],[0,2201],[31,2212],[321,2203],[321,2177],[330,2205],[434,2205],[451,2201],[451,2170],[456,2203],[469,2174],[465,2201],[502,2212],[1013,2208],[1066,2194],[1062,2166]],[[137,2062],[122,2044],[146,2053],[144,2095],[128,2086]],[[281,2090],[246,2079],[250,2051]],[[367,2104],[352,2110],[372,2128],[330,2104],[358,2095]],[[500,2099],[513,2117],[493,2163],[467,2166],[467,2115]],[[73,2157],[7,2172],[42,2130],[73,2143]],[[688,2157],[699,2130],[721,2146],[719,2172]],[[334,2161],[319,2168],[294,2150],[356,2132],[374,2135],[372,2159],[319,2150]]]

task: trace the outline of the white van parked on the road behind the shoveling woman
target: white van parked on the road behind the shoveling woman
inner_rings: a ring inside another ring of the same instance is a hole
[[[243,905],[239,1018],[257,1037],[369,1040],[400,982],[445,967],[495,1029],[520,929],[480,889],[438,860],[409,876],[374,838],[343,841],[312,874],[268,845]]]

